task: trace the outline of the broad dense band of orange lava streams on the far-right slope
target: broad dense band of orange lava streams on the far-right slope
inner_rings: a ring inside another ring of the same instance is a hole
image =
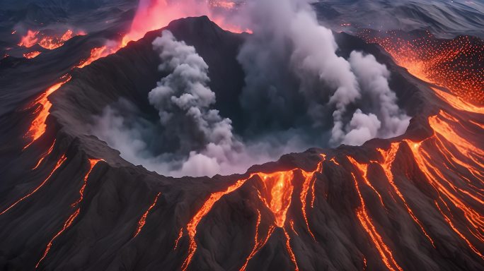
[[[410,146],[415,162],[425,174],[427,181],[439,192],[435,206],[444,221],[468,244],[474,253],[484,259],[483,253],[478,251],[469,240],[469,236],[471,236],[480,242],[484,241],[484,217],[473,207],[475,203],[483,204],[483,195],[480,193],[482,190],[477,186],[483,184],[484,164],[482,159],[484,152],[458,134],[459,128],[456,126],[461,126],[461,123],[448,116],[446,112],[441,110],[436,116],[430,116],[429,124],[434,130],[432,137],[420,142],[410,140],[405,140],[405,142]],[[437,150],[438,155],[431,155],[431,150]],[[442,164],[443,169],[435,166],[437,163]],[[455,174],[449,175],[447,173],[449,170]],[[463,170],[471,173],[470,176],[474,178],[464,177],[464,174],[461,174]],[[455,176],[459,176],[460,180]],[[471,204],[470,201],[475,203]],[[455,207],[452,208],[453,210],[459,210],[460,213],[454,212],[453,214],[448,203]],[[440,207],[441,204],[447,207],[450,216],[444,214]],[[458,225],[461,224],[452,220],[456,216],[463,216],[463,222],[466,222],[468,226],[459,229]]]

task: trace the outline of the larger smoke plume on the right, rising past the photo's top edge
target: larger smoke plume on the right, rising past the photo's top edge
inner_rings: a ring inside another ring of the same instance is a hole
[[[294,114],[298,109],[293,101],[301,102],[294,98],[299,92],[313,127],[323,126],[333,108],[332,145],[361,145],[377,136],[403,133],[409,118],[398,108],[396,95],[388,87],[386,66],[359,52],[352,52],[349,61],[338,56],[333,32],[319,25],[312,2],[266,0],[248,4],[253,35],[238,56],[246,71],[243,106],[250,111],[263,107],[265,112],[259,114]],[[291,76],[294,80],[287,79]],[[266,93],[266,99],[260,99],[260,92]],[[348,118],[349,107],[359,107],[367,100],[374,105],[366,109],[367,114],[353,109],[352,118]]]

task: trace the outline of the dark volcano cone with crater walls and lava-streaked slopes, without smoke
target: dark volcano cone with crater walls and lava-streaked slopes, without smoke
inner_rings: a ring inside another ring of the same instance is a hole
[[[207,61],[217,109],[240,121],[246,34],[206,17],[167,29]],[[120,97],[157,114],[146,97],[163,76],[151,46],[160,32],[72,71],[28,147],[39,107],[0,119],[2,269],[482,270],[482,107],[449,100],[340,33],[339,54],[358,49],[388,66],[413,116],[407,133],[284,155],[246,174],[161,176],[88,135],[92,116]]]

